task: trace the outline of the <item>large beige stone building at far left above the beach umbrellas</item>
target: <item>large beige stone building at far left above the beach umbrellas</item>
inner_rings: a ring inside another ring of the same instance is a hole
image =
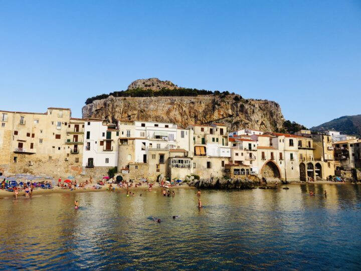
[[[0,111],[0,114],[1,173],[81,174],[82,152],[74,152],[67,143],[69,131],[79,122],[71,118],[70,109],[49,107],[45,113]],[[82,145],[83,137],[78,136],[78,144]]]

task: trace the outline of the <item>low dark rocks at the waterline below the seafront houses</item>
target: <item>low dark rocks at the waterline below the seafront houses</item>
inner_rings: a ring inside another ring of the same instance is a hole
[[[189,186],[197,188],[214,188],[214,189],[253,189],[258,186],[258,181],[245,179],[200,179],[188,183]]]

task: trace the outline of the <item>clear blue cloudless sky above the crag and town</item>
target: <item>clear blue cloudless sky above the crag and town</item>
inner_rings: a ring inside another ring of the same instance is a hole
[[[0,109],[44,112],[139,78],[361,114],[361,1],[2,1]]]

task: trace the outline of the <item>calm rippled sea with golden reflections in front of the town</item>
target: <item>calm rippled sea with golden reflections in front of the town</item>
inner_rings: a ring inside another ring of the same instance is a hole
[[[1,199],[0,269],[360,270],[361,186],[289,188]]]

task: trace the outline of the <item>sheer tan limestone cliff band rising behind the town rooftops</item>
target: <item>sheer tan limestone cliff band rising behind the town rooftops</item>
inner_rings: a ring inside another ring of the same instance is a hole
[[[83,117],[190,124],[221,122],[229,130],[282,129],[284,117],[278,103],[268,100],[235,99],[236,95],[196,97],[113,97],[94,100],[83,107]]]

